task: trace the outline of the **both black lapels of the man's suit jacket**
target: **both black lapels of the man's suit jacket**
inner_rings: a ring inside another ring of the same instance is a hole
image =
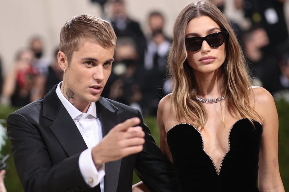
[[[43,116],[52,121],[49,125],[50,130],[57,137],[67,155],[73,156],[87,149],[87,146],[73,119],[57,97],[55,89],[56,86],[43,98]],[[96,108],[101,121],[103,137],[115,125],[123,122],[116,114],[118,108],[106,99],[100,97],[96,102]],[[121,159],[105,164],[105,191],[117,191],[120,165]]]

